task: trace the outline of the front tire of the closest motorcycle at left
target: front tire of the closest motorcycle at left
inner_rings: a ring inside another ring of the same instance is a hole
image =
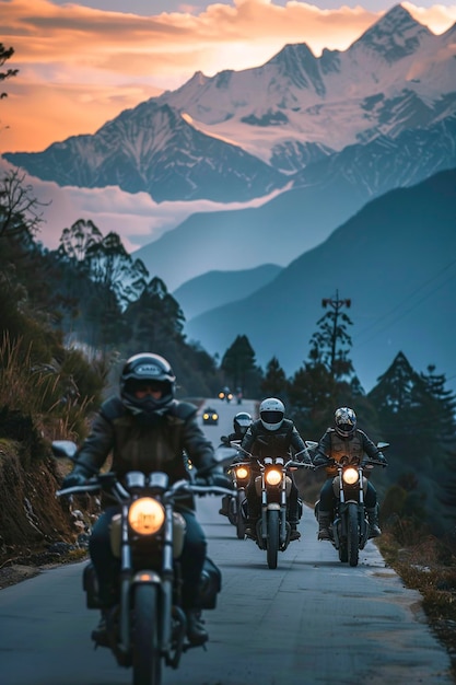
[[[159,589],[149,584],[137,585],[133,608],[132,685],[161,685],[159,620]]]

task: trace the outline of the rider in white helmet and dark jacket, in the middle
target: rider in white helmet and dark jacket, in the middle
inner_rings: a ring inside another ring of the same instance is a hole
[[[254,421],[247,429],[241,446],[256,458],[265,456],[283,456],[290,458],[290,454],[296,461],[312,464],[304,440],[297,432],[291,419],[285,419],[285,407],[281,399],[268,397],[259,406],[259,419]],[[246,488],[248,520],[246,522],[245,534],[247,537],[256,539],[256,524],[261,513],[261,501],[255,487],[255,477],[259,474],[258,466],[253,462],[252,478]],[[300,521],[299,492],[294,479],[289,498],[288,521],[291,526],[290,539],[299,539],[301,533],[297,531]]]

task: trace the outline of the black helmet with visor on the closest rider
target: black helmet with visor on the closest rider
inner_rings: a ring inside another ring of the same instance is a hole
[[[160,355],[140,352],[127,360],[120,375],[120,397],[132,414],[160,413],[174,399],[176,376],[169,362]],[[156,386],[162,391],[160,398],[145,395],[138,398],[136,392],[144,386]]]

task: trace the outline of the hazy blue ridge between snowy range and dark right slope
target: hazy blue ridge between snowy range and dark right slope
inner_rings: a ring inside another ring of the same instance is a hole
[[[135,257],[169,290],[213,269],[287,266],[377,195],[454,166],[456,116],[395,140],[349,146],[306,167],[302,186],[258,208],[195,213]]]

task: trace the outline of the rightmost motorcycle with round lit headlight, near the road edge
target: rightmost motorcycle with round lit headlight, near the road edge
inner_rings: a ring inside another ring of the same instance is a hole
[[[317,443],[315,443],[317,444]],[[389,443],[377,443],[382,451]],[[329,525],[329,535],[332,546],[338,550],[339,560],[354,567],[358,566],[360,552],[364,549],[369,539],[369,519],[364,506],[364,496],[367,489],[367,477],[364,471],[370,472],[374,466],[385,467],[384,462],[343,455],[337,466],[338,475],[332,480],[334,492],[337,498],[334,521]],[[315,503],[314,513],[318,521],[319,500]]]

